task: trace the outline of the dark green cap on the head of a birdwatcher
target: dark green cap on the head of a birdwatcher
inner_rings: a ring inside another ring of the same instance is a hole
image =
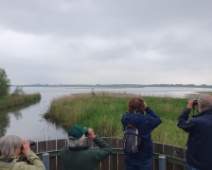
[[[84,133],[88,132],[88,128],[81,125],[74,125],[68,130],[68,136],[74,139],[79,139]]]

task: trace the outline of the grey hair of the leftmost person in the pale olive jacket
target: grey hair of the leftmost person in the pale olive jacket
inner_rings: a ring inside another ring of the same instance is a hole
[[[22,146],[22,139],[15,135],[0,138],[0,157],[11,158],[18,148]]]

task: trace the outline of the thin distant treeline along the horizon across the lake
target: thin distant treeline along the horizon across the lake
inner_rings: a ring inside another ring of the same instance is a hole
[[[17,85],[11,85],[17,86]],[[18,85],[19,87],[108,87],[108,88],[142,88],[142,87],[193,87],[193,88],[212,88],[212,85],[195,84],[28,84]]]

